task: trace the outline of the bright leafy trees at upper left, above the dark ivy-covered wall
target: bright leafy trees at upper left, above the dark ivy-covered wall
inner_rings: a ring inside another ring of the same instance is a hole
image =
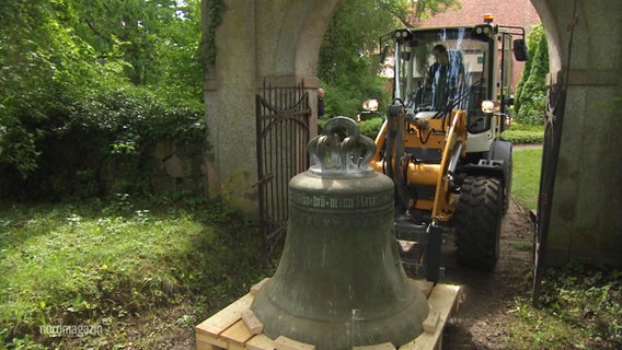
[[[156,98],[201,100],[198,0],[0,0],[0,166],[38,166],[46,137],[118,117],[97,95],[149,85]],[[189,92],[189,93],[188,93]],[[174,108],[171,108],[171,110]],[[99,119],[97,119],[99,118]]]

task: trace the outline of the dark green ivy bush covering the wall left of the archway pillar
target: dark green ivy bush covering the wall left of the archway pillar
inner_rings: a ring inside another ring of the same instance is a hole
[[[149,162],[156,142],[205,144],[203,104],[153,89],[91,91],[60,112],[28,126],[46,131],[34,143],[38,155],[26,177],[12,164],[0,165],[1,195],[22,199],[105,195],[99,184],[104,168],[114,170],[114,191],[145,194],[150,191]]]

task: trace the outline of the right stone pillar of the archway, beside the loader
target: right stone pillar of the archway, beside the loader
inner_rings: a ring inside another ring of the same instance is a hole
[[[533,3],[551,46],[550,82],[567,82],[542,262],[622,266],[622,2],[579,0],[572,50],[574,1]]]

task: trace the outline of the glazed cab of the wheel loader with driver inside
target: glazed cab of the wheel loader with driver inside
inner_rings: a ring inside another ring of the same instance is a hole
[[[484,23],[389,33],[385,63],[393,65],[394,100],[421,118],[466,110],[466,152],[488,151],[510,118],[512,57],[527,59],[525,32],[518,30]],[[514,35],[522,39],[515,44]],[[498,112],[483,112],[484,101],[493,101]]]

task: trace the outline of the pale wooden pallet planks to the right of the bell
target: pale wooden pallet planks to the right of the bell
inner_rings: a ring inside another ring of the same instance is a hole
[[[438,312],[440,325],[434,332],[423,332],[415,340],[400,347],[400,350],[440,350],[442,330],[451,311],[457,304],[460,285],[436,284],[428,298],[431,310]]]

